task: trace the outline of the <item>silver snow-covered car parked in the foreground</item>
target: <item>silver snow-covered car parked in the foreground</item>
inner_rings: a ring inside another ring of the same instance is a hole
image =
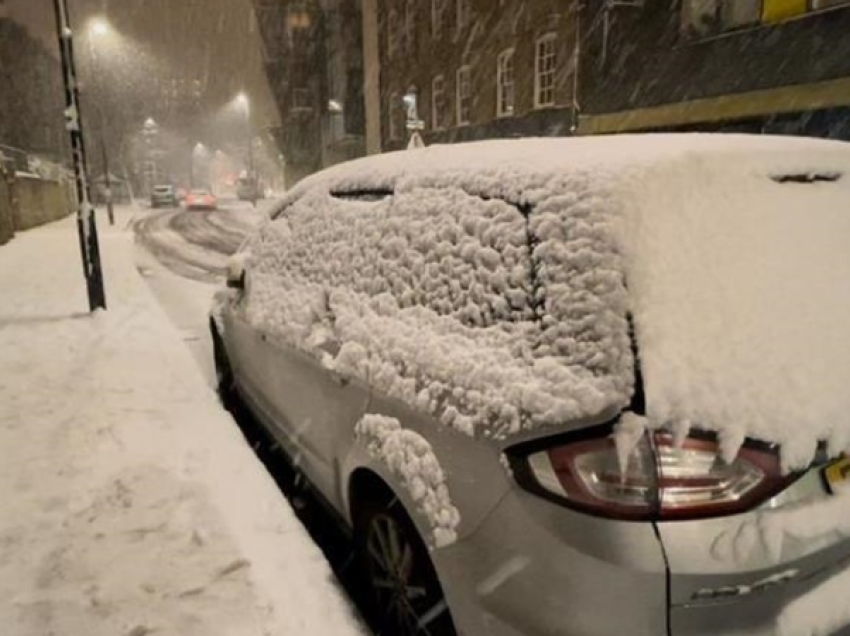
[[[848,238],[840,142],[370,157],[234,257],[220,390],[352,528],[382,634],[847,634]]]

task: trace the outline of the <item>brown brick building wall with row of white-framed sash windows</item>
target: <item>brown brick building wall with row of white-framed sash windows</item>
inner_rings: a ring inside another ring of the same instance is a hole
[[[578,0],[378,0],[381,146],[567,135]]]

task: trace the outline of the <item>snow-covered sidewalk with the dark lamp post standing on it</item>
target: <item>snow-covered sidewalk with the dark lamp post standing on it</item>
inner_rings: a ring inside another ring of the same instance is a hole
[[[95,316],[72,218],[0,248],[3,635],[362,634],[125,223],[101,236]]]

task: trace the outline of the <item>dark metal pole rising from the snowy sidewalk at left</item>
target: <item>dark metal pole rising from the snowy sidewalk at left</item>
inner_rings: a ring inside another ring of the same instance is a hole
[[[97,223],[91,204],[91,189],[86,164],[86,147],[80,118],[80,95],[77,88],[77,72],[74,67],[74,43],[71,37],[71,20],[66,0],[53,0],[56,10],[56,33],[62,55],[62,75],[65,80],[65,118],[71,138],[71,154],[74,161],[74,181],[77,189],[77,231],[80,237],[80,252],[83,274],[86,278],[89,309],[106,309],[106,292],[103,287],[103,270],[100,265],[100,244],[97,239]]]

